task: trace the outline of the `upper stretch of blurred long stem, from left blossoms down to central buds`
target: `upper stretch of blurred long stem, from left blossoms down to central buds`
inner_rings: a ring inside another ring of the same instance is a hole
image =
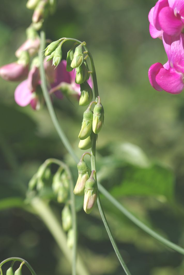
[[[41,88],[43,91],[43,95],[47,104],[47,108],[49,110],[50,117],[52,119],[52,122],[56,128],[56,131],[60,137],[60,139],[63,141],[63,144],[65,145],[66,150],[70,153],[70,155],[74,158],[75,161],[78,162],[78,157],[75,155],[70,142],[68,141],[65,133],[63,132],[62,128],[59,125],[59,122],[57,120],[57,116],[55,114],[55,111],[52,107],[52,102],[50,100],[50,96],[47,90],[47,84],[46,84],[46,76],[44,71],[44,65],[43,65],[43,56],[41,51],[45,48],[45,33],[44,31],[41,31],[41,45],[40,45],[40,51],[39,51],[39,59],[40,59],[40,78],[41,78]]]

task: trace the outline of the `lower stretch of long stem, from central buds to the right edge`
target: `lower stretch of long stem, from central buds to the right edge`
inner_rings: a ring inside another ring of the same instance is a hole
[[[139,221],[134,215],[132,215],[122,204],[120,204],[113,196],[100,184],[98,183],[99,191],[114,205],[116,206],[128,219],[130,219],[134,224],[148,233],[150,236],[158,240],[159,242],[165,244],[169,248],[181,253],[184,255],[184,249],[178,246],[177,244],[172,243],[171,241],[167,240],[166,238],[162,237],[151,228],[146,226],[143,222]]]

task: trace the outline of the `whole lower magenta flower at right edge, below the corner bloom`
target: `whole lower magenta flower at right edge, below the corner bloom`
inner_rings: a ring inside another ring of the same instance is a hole
[[[179,94],[184,88],[184,34],[171,37],[164,33],[163,43],[168,61],[164,65],[153,64],[148,71],[148,77],[154,89]]]

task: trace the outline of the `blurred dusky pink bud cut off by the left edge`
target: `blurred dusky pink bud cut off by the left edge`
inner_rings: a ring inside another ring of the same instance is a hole
[[[0,76],[7,81],[21,81],[28,75],[28,65],[13,62],[0,68]]]

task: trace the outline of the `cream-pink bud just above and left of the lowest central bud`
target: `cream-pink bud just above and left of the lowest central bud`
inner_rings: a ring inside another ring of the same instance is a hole
[[[86,181],[89,179],[91,170],[84,161],[84,156],[81,157],[81,160],[77,164],[78,168],[78,179],[75,185],[73,193],[78,196],[84,195],[84,189]]]

